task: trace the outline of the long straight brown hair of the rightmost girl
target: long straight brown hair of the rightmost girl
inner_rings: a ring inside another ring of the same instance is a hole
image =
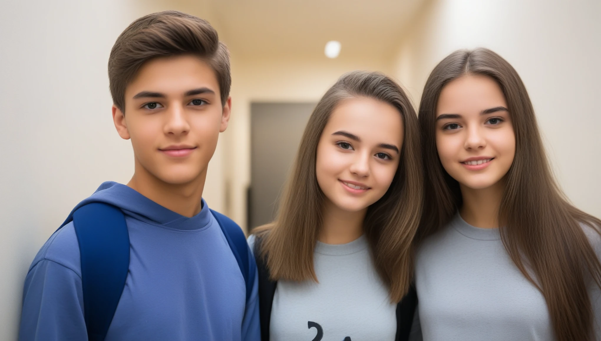
[[[444,170],[436,150],[435,120],[442,88],[466,74],[485,75],[498,83],[516,136],[516,153],[506,174],[498,216],[505,249],[545,297],[557,340],[593,340],[593,310],[587,286],[592,281],[601,287],[601,264],[583,225],[600,233],[601,221],[572,206],[558,188],[526,87],[513,67],[490,50],[451,53],[426,82],[418,118],[426,202],[417,240],[444,227],[462,206],[459,183]]]

